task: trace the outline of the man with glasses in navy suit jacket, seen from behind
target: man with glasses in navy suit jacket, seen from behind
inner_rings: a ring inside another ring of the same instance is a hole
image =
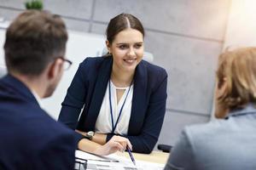
[[[7,76],[0,79],[0,169],[73,169],[77,139],[40,107],[64,71],[67,30],[61,18],[29,10],[9,26]]]

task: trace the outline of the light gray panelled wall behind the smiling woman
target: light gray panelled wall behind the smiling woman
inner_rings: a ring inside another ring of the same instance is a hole
[[[24,9],[20,2],[0,0],[0,16],[12,20]],[[209,121],[230,0],[44,0],[44,8],[61,14],[71,30],[98,34],[119,13],[142,20],[145,50],[169,75],[159,143],[173,144],[185,125]]]

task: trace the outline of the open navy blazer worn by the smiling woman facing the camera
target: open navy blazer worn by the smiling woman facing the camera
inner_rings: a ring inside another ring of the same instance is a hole
[[[62,102],[60,122],[85,132],[95,130],[112,64],[112,56],[84,59]],[[131,118],[125,136],[135,152],[150,153],[154,149],[166,113],[166,85],[167,73],[163,68],[144,60],[137,65]],[[113,135],[108,133],[107,141]]]

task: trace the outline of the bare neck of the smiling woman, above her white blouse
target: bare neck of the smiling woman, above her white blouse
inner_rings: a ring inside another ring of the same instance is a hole
[[[111,81],[116,87],[125,88],[131,85],[135,71],[120,71],[113,66]]]

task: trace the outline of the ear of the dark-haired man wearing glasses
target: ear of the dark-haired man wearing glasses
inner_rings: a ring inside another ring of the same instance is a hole
[[[60,74],[62,70],[62,66],[63,66],[63,61],[61,59],[55,59],[55,61],[51,63],[51,65],[49,65],[49,71],[48,71],[49,80],[54,79]]]

